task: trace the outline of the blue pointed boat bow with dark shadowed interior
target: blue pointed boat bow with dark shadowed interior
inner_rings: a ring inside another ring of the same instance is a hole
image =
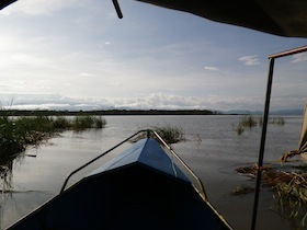
[[[183,168],[141,139],[9,229],[231,229]]]

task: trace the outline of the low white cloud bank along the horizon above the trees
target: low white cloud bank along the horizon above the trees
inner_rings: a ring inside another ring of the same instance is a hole
[[[2,110],[56,110],[56,111],[93,111],[93,110],[250,110],[262,111],[262,96],[209,95],[207,97],[182,96],[156,93],[139,97],[68,97],[59,94],[0,94]],[[307,97],[297,100],[295,95],[274,97],[272,108],[300,108]],[[291,107],[288,106],[291,105]]]

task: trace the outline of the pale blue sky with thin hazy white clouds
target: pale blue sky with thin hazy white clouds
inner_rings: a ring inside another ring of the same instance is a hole
[[[306,45],[135,0],[0,11],[0,107],[262,111],[268,56]],[[276,60],[271,110],[302,108],[307,54]]]

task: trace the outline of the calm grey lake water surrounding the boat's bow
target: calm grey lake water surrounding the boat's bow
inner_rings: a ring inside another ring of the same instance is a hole
[[[185,141],[172,145],[204,183],[209,202],[238,230],[250,229],[253,194],[230,196],[240,184],[254,186],[249,177],[235,169],[258,162],[261,127],[235,131],[241,116],[105,116],[107,125],[101,130],[66,131],[49,139],[37,149],[29,149],[13,162],[11,182],[13,193],[2,193],[1,229],[10,226],[53,196],[57,195],[72,170],[104,152],[135,131],[151,126],[174,125],[184,131]],[[285,125],[269,125],[265,163],[274,163],[289,150],[296,149],[302,117],[286,116]],[[75,176],[78,181],[126,146],[100,160]],[[35,157],[33,157],[35,156]],[[299,158],[288,164],[296,164]],[[70,184],[71,184],[70,183]],[[86,197],[84,197],[86,198]],[[258,229],[298,229],[275,210],[273,194],[265,187],[260,194]]]

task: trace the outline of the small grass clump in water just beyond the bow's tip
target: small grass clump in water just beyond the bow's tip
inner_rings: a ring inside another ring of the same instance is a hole
[[[157,131],[158,135],[161,136],[161,138],[167,143],[175,143],[184,140],[183,130],[180,127],[171,126],[171,125],[164,125],[164,126],[152,126],[150,129],[154,131]],[[140,134],[136,138],[132,139],[132,142],[136,142],[139,139],[143,139],[146,137],[146,134]]]

